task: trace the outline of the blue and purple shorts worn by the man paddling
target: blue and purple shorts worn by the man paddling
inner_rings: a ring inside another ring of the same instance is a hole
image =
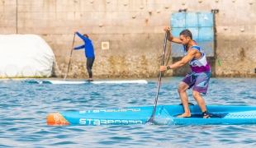
[[[196,90],[200,93],[206,94],[209,81],[210,81],[211,71],[210,72],[189,72],[183,78],[183,82],[186,83],[190,89],[192,86],[193,90]]]

